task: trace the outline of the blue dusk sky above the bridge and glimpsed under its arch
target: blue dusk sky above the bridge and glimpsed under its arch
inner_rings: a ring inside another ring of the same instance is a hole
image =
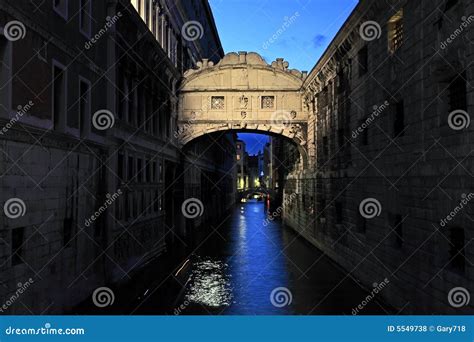
[[[357,0],[209,0],[224,51],[254,51],[271,63],[310,71],[347,19]],[[284,25],[285,22],[291,23]],[[277,35],[277,30],[284,32]],[[263,150],[268,137],[239,134],[249,154]]]

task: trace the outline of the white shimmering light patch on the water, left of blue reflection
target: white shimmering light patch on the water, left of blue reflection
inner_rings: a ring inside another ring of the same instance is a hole
[[[227,267],[219,260],[196,262],[189,279],[186,300],[209,307],[229,306],[233,296]]]

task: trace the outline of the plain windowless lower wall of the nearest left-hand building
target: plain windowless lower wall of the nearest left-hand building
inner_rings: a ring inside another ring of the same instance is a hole
[[[0,202],[19,198],[25,203],[24,216],[0,218],[1,302],[7,302],[17,284],[32,278],[34,285],[8,312],[40,314],[39,308],[47,307],[48,312],[58,312],[103,281],[103,266],[94,263],[101,250],[100,235],[84,226],[97,205],[91,194],[103,187],[95,173],[100,151],[70,151],[67,144],[52,147],[45,140],[39,146],[3,139],[0,150]],[[18,230],[23,230],[24,239],[14,246],[12,235]]]

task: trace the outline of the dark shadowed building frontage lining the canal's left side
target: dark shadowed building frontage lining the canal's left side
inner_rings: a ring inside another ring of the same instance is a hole
[[[179,243],[186,198],[192,225],[234,202],[235,136],[177,143],[183,70],[223,56],[207,1],[2,1],[0,28],[4,312],[67,311]]]

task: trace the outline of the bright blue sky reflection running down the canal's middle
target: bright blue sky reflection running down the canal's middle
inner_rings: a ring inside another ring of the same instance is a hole
[[[243,209],[241,209],[243,208]],[[263,202],[247,202],[233,216],[229,234],[233,305],[227,314],[285,314],[289,307],[277,308],[270,294],[277,287],[288,286],[288,269],[283,250],[281,226],[266,219]]]

